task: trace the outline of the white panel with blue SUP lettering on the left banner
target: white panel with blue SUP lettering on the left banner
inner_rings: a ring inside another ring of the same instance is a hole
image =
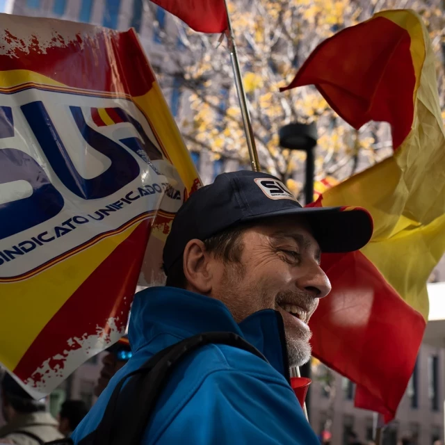
[[[181,205],[179,175],[127,98],[28,88],[0,104],[0,279]]]

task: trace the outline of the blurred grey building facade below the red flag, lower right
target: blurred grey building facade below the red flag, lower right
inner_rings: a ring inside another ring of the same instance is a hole
[[[385,429],[383,445],[395,445],[404,435],[411,435],[414,445],[444,440],[444,371],[445,349],[423,343],[396,419]],[[350,430],[357,433],[361,442],[371,441],[373,413],[355,408],[355,385],[337,373],[333,375],[335,396],[330,398],[330,391],[323,385],[323,369],[313,372],[309,413],[312,428],[321,433],[329,412],[333,412],[331,445],[347,444]]]

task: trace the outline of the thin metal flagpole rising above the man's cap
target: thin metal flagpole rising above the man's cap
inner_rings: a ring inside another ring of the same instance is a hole
[[[225,3],[225,9],[227,11],[227,31],[225,32],[225,35],[227,36],[230,58],[232,59],[232,67],[234,69],[236,92],[238,93],[239,107],[241,108],[241,115],[243,117],[245,138],[248,143],[250,165],[254,172],[259,172],[261,168],[259,166],[257,146],[255,145],[255,138],[252,129],[252,121],[250,120],[250,114],[248,110],[248,101],[245,97],[243,77],[241,76],[241,69],[239,67],[238,53],[236,51],[236,44],[234,39],[234,33],[232,30],[232,22],[230,21],[230,16],[229,16],[229,8],[227,7],[227,0],[224,0],[224,3]]]

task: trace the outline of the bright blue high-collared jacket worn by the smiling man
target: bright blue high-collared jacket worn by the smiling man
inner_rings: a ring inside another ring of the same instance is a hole
[[[171,287],[139,292],[131,308],[133,357],[111,379],[74,431],[95,430],[119,380],[152,355],[201,332],[235,332],[263,359],[225,345],[203,346],[173,371],[147,425],[142,444],[319,444],[286,380],[280,314],[265,310],[236,324],[220,301]]]

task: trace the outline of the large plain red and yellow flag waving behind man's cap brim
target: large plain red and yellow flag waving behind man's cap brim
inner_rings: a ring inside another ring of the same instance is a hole
[[[389,10],[345,29],[283,90],[308,84],[356,129],[391,124],[393,156],[313,204],[365,207],[374,234],[359,252],[324,255],[333,290],[311,323],[314,355],[357,383],[356,406],[389,421],[426,327],[426,282],[445,251],[445,131],[426,26],[411,10]]]

